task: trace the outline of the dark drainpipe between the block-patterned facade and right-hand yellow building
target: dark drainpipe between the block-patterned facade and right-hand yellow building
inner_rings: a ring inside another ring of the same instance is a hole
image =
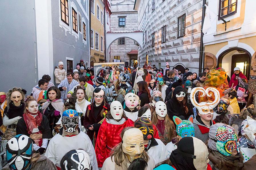
[[[204,25],[204,20],[205,20],[205,3],[206,0],[203,0],[203,10],[202,10],[202,26],[201,26],[201,39],[200,39],[200,53],[199,53],[199,71],[198,73],[202,73],[202,65],[203,65],[203,60],[204,60],[204,53],[203,53],[203,25]]]

